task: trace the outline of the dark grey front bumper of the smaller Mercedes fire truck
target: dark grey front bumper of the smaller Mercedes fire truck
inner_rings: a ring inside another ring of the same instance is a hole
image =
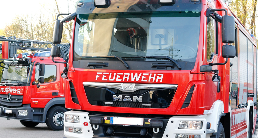
[[[5,110],[12,110],[12,113],[5,113]],[[28,115],[20,116],[18,113],[18,110],[27,110]],[[9,119],[19,119],[19,120],[25,120],[25,121],[33,121],[32,108],[30,107],[30,104],[25,104],[19,108],[7,108],[7,107],[0,106],[0,117],[5,117]]]

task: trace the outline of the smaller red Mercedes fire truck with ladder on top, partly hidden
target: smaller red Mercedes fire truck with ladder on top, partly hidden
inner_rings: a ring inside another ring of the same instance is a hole
[[[63,130],[63,113],[68,110],[64,105],[64,79],[60,75],[65,66],[52,61],[48,48],[52,43],[6,38],[0,41],[4,58],[1,62],[0,117],[19,119],[28,127],[46,122],[52,130]],[[69,48],[69,44],[59,46]],[[41,52],[18,55],[17,49]],[[55,60],[65,61],[64,58]]]

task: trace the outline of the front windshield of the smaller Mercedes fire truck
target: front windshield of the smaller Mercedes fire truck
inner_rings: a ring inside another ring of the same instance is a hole
[[[31,63],[32,64],[32,63]],[[4,65],[1,84],[16,83],[22,86],[29,83],[31,64],[7,64]]]

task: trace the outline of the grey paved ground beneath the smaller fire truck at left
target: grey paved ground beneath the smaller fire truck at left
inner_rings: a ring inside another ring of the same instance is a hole
[[[25,127],[19,120],[0,117],[1,138],[64,138],[63,131],[50,130],[46,123],[35,127]]]

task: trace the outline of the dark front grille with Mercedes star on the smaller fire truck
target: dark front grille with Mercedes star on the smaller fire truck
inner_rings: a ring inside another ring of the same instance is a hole
[[[17,108],[22,106],[22,95],[12,95],[11,101],[7,101],[7,94],[0,94],[0,104],[8,108]]]

